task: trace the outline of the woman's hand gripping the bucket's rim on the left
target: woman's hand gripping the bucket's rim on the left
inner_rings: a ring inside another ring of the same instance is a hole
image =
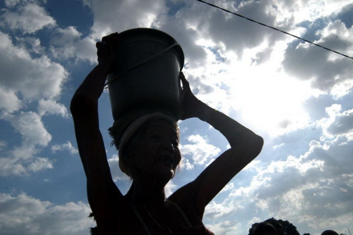
[[[102,38],[96,43],[98,64],[107,68],[108,74],[113,72],[117,60],[115,51],[116,45],[121,42],[118,32],[112,33]]]

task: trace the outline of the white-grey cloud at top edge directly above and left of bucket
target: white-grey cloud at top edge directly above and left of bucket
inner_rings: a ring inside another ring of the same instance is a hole
[[[55,58],[97,63],[95,44],[103,36],[121,32],[133,27],[150,27],[158,16],[165,13],[164,1],[83,1],[84,6],[92,8],[94,25],[92,33],[81,39],[82,33],[76,27],[58,28],[57,36],[51,41],[50,51]],[[119,16],[119,17],[116,17]],[[123,21],[120,19],[124,19]]]

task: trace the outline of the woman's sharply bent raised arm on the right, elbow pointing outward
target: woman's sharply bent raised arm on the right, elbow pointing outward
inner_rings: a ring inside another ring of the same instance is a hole
[[[219,130],[231,148],[213,161],[187,188],[193,188],[194,204],[202,218],[205,206],[222,188],[260,153],[262,137],[239,124],[232,118],[216,111],[198,100],[191,92],[183,74],[184,101],[182,119],[197,117]]]

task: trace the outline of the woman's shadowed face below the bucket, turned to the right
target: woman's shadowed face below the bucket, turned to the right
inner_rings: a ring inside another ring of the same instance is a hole
[[[128,151],[134,168],[152,177],[173,178],[181,160],[179,138],[174,125],[167,120],[156,119],[136,138]]]

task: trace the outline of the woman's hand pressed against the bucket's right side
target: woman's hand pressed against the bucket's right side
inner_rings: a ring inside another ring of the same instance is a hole
[[[199,113],[202,111],[203,105],[205,105],[201,100],[197,99],[194,94],[192,94],[189,82],[185,79],[183,72],[179,73],[179,79],[183,84],[182,91],[182,105],[183,111],[181,113],[181,120],[187,118],[198,117]]]

